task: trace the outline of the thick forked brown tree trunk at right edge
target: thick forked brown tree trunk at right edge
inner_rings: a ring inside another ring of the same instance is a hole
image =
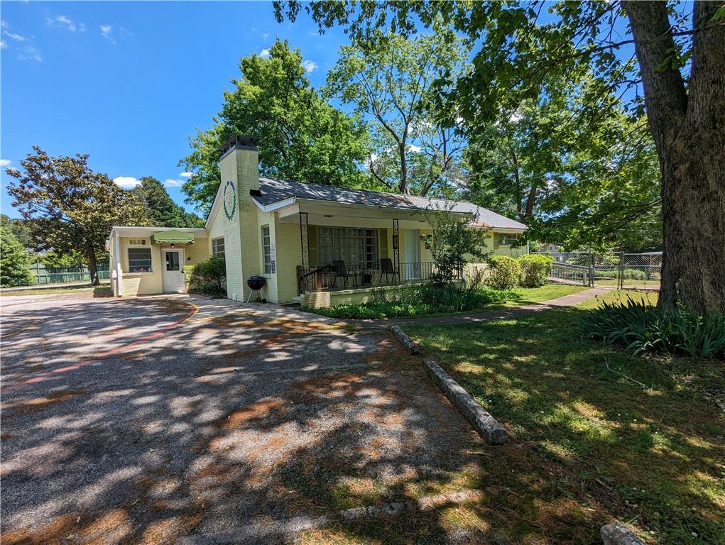
[[[695,4],[685,88],[664,2],[624,1],[662,174],[660,304],[725,312],[725,28],[716,2]]]

